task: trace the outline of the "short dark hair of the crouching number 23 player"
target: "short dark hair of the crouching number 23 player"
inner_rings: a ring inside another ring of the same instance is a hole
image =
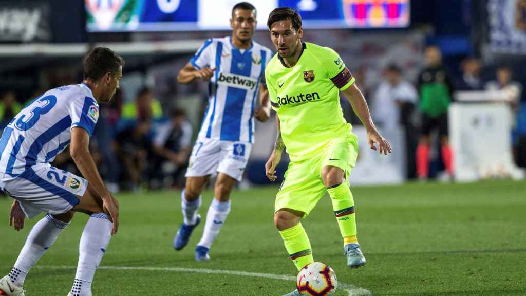
[[[107,47],[95,47],[84,58],[84,79],[99,80],[110,72],[115,75],[119,67],[124,67],[124,60]]]

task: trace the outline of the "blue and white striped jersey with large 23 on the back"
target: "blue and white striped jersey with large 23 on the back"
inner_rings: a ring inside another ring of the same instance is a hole
[[[74,126],[91,136],[99,107],[82,83],[45,92],[9,122],[0,139],[0,172],[16,176],[36,163],[49,163],[66,149]]]

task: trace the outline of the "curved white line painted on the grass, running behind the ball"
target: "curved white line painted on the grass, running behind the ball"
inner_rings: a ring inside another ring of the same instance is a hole
[[[76,266],[66,265],[36,265],[33,268],[49,268],[49,269],[76,269]],[[272,274],[272,273],[259,273],[259,272],[247,272],[247,271],[236,271],[236,270],[221,270],[221,269],[207,269],[207,268],[184,268],[184,267],[137,267],[137,266],[99,266],[98,269],[109,269],[109,270],[146,270],[146,271],[173,271],[173,272],[196,272],[196,273],[209,273],[209,274],[230,274],[230,275],[241,275],[242,277],[254,277],[254,278],[266,278],[274,280],[285,280],[295,281],[296,277],[291,275]],[[371,296],[372,293],[369,290],[356,287],[355,285],[338,283],[338,289],[346,291],[349,296]]]

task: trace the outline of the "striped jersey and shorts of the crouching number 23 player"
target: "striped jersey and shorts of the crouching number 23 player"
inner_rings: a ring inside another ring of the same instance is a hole
[[[89,87],[67,85],[35,98],[4,129],[0,174],[5,183],[21,182],[6,190],[29,218],[43,210],[64,213],[78,204],[76,195],[84,195],[87,181],[49,163],[69,145],[70,129],[82,127],[91,135],[98,116],[99,106]]]

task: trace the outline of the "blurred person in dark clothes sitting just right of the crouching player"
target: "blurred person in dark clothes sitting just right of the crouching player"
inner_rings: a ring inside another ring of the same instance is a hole
[[[145,178],[148,150],[151,143],[151,119],[139,117],[134,124],[119,132],[114,141],[115,152],[122,163],[125,188],[138,190]]]

